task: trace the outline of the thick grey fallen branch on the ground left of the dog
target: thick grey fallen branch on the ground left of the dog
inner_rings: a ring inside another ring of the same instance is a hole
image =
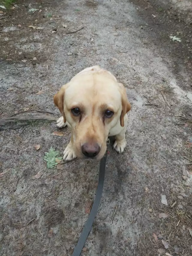
[[[58,118],[48,115],[42,116],[16,116],[16,117],[7,117],[0,119],[0,125],[5,125],[7,123],[18,121],[36,121],[36,120],[47,120],[47,121],[57,121]]]

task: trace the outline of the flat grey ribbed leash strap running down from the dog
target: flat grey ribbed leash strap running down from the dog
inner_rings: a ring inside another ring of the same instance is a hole
[[[104,179],[105,179],[105,168],[106,168],[106,159],[107,159],[107,153],[105,153],[104,157],[100,160],[99,164],[99,179],[98,179],[98,187],[97,187],[97,192],[95,196],[95,200],[91,209],[91,212],[89,214],[89,217],[87,221],[85,222],[85,226],[83,228],[83,231],[79,237],[79,241],[73,251],[72,256],[80,256],[82,248],[85,244],[85,241],[87,239],[87,236],[91,230],[93,221],[95,219],[95,216],[98,211],[98,207],[100,204],[101,200],[101,195],[103,191],[103,185],[104,185]]]

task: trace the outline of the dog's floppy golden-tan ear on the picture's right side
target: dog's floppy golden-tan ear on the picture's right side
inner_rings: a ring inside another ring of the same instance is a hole
[[[119,88],[120,88],[121,101],[122,101],[122,112],[121,112],[121,116],[120,116],[120,124],[123,127],[124,126],[124,117],[125,117],[126,113],[128,113],[129,110],[131,110],[131,104],[128,101],[126,89],[122,83],[119,83]]]

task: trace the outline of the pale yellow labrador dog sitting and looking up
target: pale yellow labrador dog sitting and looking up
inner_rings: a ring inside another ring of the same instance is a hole
[[[99,66],[85,68],[63,85],[54,96],[62,117],[58,128],[68,126],[71,140],[63,159],[100,160],[107,149],[108,136],[115,135],[113,148],[121,153],[126,146],[127,112],[131,110],[126,89]]]

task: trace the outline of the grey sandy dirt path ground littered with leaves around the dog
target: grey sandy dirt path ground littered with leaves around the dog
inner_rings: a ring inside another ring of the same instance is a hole
[[[0,13],[1,118],[29,110],[18,115],[60,116],[55,92],[95,64],[127,88],[128,146],[122,155],[110,149],[82,255],[192,254],[192,23],[190,2],[178,2],[17,1]],[[64,136],[52,134],[55,122],[0,129],[0,255],[71,255],[99,164],[48,169],[44,152],[52,146],[62,155],[70,139],[65,128]]]

